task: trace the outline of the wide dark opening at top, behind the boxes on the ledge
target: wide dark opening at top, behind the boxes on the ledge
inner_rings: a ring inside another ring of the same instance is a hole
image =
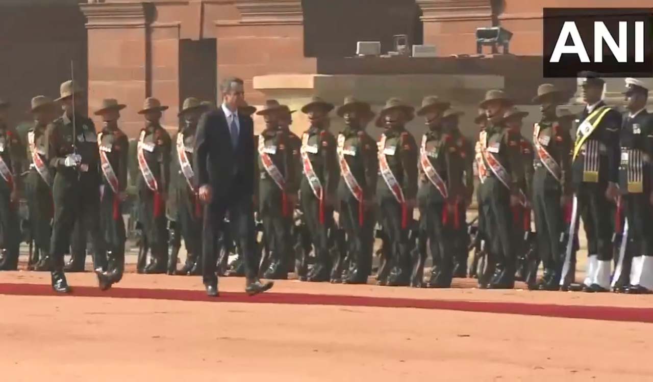
[[[415,0],[303,0],[306,57],[352,57],[358,41],[393,49],[394,35],[422,44],[421,9]]]

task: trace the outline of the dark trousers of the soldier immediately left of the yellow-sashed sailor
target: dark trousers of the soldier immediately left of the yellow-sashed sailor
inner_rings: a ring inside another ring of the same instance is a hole
[[[537,252],[545,271],[555,271],[558,276],[562,271],[562,246],[560,236],[564,221],[560,198],[560,188],[546,188],[544,179],[548,176],[545,168],[535,170],[533,186],[533,211],[537,231]]]

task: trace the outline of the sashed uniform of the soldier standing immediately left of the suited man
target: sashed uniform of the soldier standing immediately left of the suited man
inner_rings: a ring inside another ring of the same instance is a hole
[[[178,134],[183,134],[183,147],[189,164],[193,165],[193,142],[195,141],[195,128],[185,128],[178,132],[172,141],[172,158],[170,163],[170,192],[174,192],[174,203],[176,204],[176,226],[170,229],[170,233],[181,233],[183,243],[186,247],[186,262],[180,270],[180,274],[200,274],[202,266],[202,205],[194,189],[191,189],[189,182],[182,173],[182,168],[177,153]],[[192,179],[191,179],[192,182]],[[172,184],[174,183],[174,186]],[[172,237],[170,241],[172,241]],[[175,238],[176,239],[176,238]],[[177,245],[177,241],[173,243]],[[176,249],[176,248],[175,248]],[[178,252],[178,250],[177,250]],[[168,261],[168,272],[174,270],[177,264],[176,253],[172,254]]]

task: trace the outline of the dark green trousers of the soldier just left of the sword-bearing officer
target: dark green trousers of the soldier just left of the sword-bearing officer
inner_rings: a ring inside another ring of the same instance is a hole
[[[52,235],[52,194],[50,186],[36,170],[30,170],[25,178],[25,197],[29,203],[29,226],[34,243],[41,256],[50,256],[50,237]]]

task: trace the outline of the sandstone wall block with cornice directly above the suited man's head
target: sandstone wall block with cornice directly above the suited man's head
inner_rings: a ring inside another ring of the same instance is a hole
[[[234,0],[236,12],[215,20],[217,76],[245,80],[247,100],[262,104],[252,79],[270,73],[314,74],[317,63],[304,57],[301,0]]]

